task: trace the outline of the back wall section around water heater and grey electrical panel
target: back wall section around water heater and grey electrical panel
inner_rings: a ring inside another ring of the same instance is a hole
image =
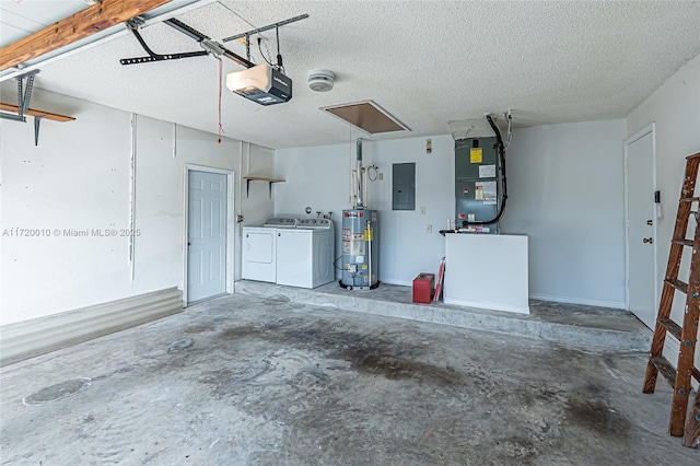
[[[364,141],[363,164],[378,165],[383,180],[370,184],[370,208],[380,211],[380,281],[411,284],[422,272],[436,272],[445,254],[438,233],[454,217],[454,141],[451,136],[432,137],[432,153],[425,138]],[[350,167],[355,164],[355,143],[315,148],[280,149],[275,155],[276,175],[285,178],[275,190],[276,214],[307,217],[332,211],[336,220],[336,256],[340,255],[340,215],[351,207]],[[416,162],[416,210],[392,210],[392,164]],[[420,215],[425,207],[425,215]],[[432,224],[433,233],[425,233]]]

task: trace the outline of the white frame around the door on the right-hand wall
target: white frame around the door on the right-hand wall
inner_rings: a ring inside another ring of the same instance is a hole
[[[657,189],[656,182],[656,124],[651,123],[625,140],[625,308],[630,311],[630,206],[629,206],[629,147],[644,136],[652,135],[652,186],[651,191]],[[654,215],[652,232],[654,237],[654,307],[658,305],[658,213]]]

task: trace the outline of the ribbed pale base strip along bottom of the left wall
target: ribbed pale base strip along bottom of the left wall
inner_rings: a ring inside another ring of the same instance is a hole
[[[0,327],[0,366],[183,311],[177,288],[153,291]]]

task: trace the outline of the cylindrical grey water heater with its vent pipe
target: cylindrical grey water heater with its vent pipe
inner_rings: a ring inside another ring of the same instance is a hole
[[[371,290],[380,286],[377,212],[368,208],[368,170],[376,166],[362,166],[362,139],[358,139],[357,168],[351,172],[352,209],[342,211],[340,286],[348,290]]]

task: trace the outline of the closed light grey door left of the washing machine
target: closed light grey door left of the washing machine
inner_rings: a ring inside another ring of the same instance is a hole
[[[189,171],[187,302],[226,292],[226,175]]]

